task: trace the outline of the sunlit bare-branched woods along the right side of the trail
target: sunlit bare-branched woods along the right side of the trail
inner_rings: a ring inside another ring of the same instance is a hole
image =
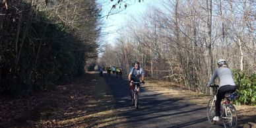
[[[115,45],[106,45],[104,65],[128,70],[135,60],[141,61],[148,77],[207,94],[205,84],[217,59],[226,59],[231,69],[238,70],[236,76],[255,74],[255,1],[161,3],[148,7],[144,16],[127,20]],[[240,80],[236,77],[238,88],[250,95],[241,104],[255,104],[255,87],[247,90]]]

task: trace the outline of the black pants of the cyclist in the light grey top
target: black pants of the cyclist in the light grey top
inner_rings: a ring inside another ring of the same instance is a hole
[[[222,99],[225,98],[226,92],[235,92],[235,90],[236,90],[236,86],[232,86],[232,85],[224,85],[224,86],[220,86],[220,88],[218,88],[217,99],[215,102],[215,115],[216,116],[220,116],[220,102]]]

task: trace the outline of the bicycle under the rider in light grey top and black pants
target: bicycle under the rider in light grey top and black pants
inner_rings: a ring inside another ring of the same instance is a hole
[[[208,121],[211,124],[216,123],[213,121],[213,117],[215,115],[215,102],[217,98],[218,85],[213,84],[212,87],[212,99],[209,100],[207,104],[207,117]],[[220,104],[220,119],[224,123],[224,127],[236,127],[238,125],[238,113],[236,112],[235,106],[232,104],[232,100],[236,100],[239,98],[239,95],[236,92],[226,92],[224,100],[222,100]]]

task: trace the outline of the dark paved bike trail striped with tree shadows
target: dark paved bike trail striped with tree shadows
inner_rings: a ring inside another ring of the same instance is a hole
[[[149,90],[146,84],[139,96],[139,110],[131,104],[127,80],[104,75],[115,100],[115,108],[127,121],[118,127],[224,127],[219,122],[208,123],[206,108],[182,102],[181,99],[165,96]]]

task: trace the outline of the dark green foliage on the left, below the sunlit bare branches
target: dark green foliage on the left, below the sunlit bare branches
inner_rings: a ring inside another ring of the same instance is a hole
[[[18,1],[13,5],[24,11],[17,13],[14,8],[4,10],[4,7],[0,11],[11,14],[0,15],[0,94],[28,95],[54,88],[54,84],[73,80],[73,77],[84,73],[88,53],[96,54],[96,34],[82,35],[94,39],[86,44],[84,38],[77,38],[81,32],[70,29],[57,16],[49,16],[49,11],[36,11],[31,5]],[[92,6],[80,13],[92,14],[93,10]],[[96,20],[90,24],[79,24],[81,29],[86,25],[90,25],[87,28],[93,31]]]

